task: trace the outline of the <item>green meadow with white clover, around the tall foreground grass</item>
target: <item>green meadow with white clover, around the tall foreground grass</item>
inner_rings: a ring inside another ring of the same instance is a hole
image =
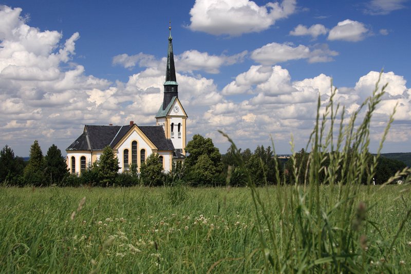
[[[281,222],[276,221],[280,209],[272,202],[276,192],[290,188],[257,189],[271,207],[274,230],[279,231]],[[328,188],[321,188],[322,201]],[[356,200],[365,198],[367,188]],[[367,211],[365,219],[376,222],[380,232],[363,231],[364,252],[371,253],[364,270],[411,269],[410,223],[387,247],[411,207],[409,189],[387,186]],[[171,188],[0,188],[0,272],[267,270],[250,189],[188,188],[181,193],[185,199]],[[267,233],[264,223],[261,228]],[[328,262],[317,263],[321,270]]]

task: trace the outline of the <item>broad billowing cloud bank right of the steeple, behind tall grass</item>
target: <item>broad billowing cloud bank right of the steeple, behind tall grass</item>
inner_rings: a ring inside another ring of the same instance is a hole
[[[372,93],[378,78],[379,72],[370,71],[354,87],[337,89],[333,100],[344,105],[346,115],[350,115]],[[395,116],[397,123],[392,126],[398,136],[396,139],[390,135],[390,138],[393,142],[398,142],[399,139],[402,142],[409,141],[409,135],[404,133],[408,130],[404,129],[409,129],[411,123],[411,89],[406,87],[405,79],[394,72],[381,75],[380,83],[387,82],[386,95],[373,116],[372,136],[381,136],[389,115],[398,104]],[[324,74],[292,81],[289,71],[281,66],[251,66],[223,88],[222,92],[229,96],[247,90],[249,98],[241,102],[225,98],[223,102],[211,106],[207,117],[215,115],[218,120],[227,123],[216,126],[210,122],[207,127],[222,129],[234,138],[239,147],[244,148],[249,148],[250,142],[270,144],[269,134],[277,145],[287,145],[290,134],[294,135],[297,147],[305,145],[315,121],[317,99],[320,96],[320,112],[323,112],[331,95],[330,83],[331,77]],[[236,123],[232,122],[233,119]]]

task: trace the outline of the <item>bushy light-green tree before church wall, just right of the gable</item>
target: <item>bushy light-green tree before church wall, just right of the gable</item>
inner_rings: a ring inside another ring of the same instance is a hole
[[[146,186],[160,186],[163,182],[163,165],[157,153],[152,153],[140,166],[140,178]]]

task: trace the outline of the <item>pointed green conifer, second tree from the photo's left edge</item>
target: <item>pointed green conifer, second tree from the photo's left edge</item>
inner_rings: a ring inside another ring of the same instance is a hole
[[[35,140],[30,147],[30,159],[24,169],[24,182],[27,185],[41,186],[45,183],[44,158],[39,141]]]

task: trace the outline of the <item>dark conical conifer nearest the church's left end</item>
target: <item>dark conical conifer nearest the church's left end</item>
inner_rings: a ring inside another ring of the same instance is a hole
[[[55,144],[52,144],[44,159],[46,180],[50,179],[51,183],[61,183],[69,174],[61,150]]]

